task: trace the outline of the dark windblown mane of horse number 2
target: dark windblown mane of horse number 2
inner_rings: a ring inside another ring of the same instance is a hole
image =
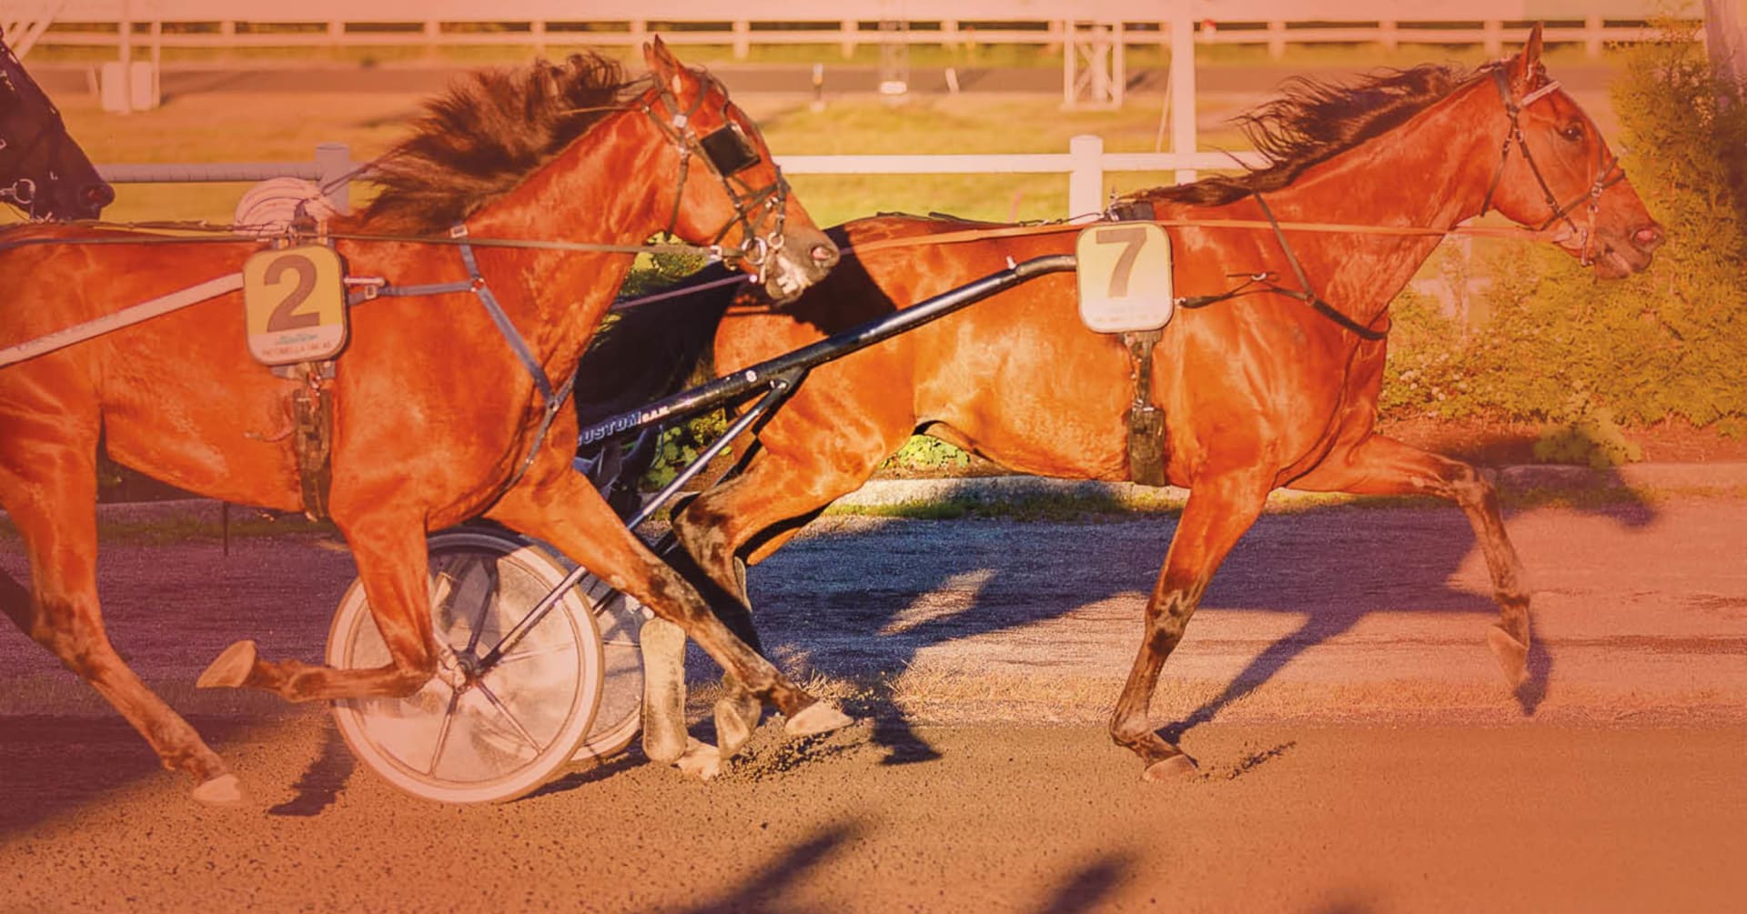
[[[447,231],[624,107],[638,82],[592,52],[466,73],[370,164],[381,192],[360,218],[412,234]]]

